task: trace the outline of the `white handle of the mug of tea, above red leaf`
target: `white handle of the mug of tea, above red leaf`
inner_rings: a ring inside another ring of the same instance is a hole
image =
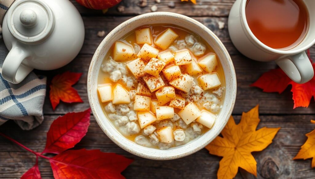
[[[276,63],[296,83],[306,83],[314,76],[312,63],[305,51],[278,59]]]

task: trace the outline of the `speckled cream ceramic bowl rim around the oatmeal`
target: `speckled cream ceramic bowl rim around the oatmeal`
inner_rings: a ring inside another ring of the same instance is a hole
[[[225,101],[213,128],[205,134],[199,136],[197,139],[194,139],[185,145],[170,148],[168,150],[143,147],[125,138],[114,127],[112,122],[107,119],[102,109],[102,106],[100,105],[99,97],[97,94],[97,80],[100,72],[100,66],[107,51],[111,48],[115,41],[121,39],[123,36],[128,34],[130,31],[136,29],[137,27],[147,24],[175,24],[177,26],[190,29],[191,31],[197,33],[202,39],[204,39],[209,45],[211,45],[213,50],[215,50],[215,53],[218,55],[225,73]],[[203,24],[192,18],[176,13],[146,13],[131,18],[118,25],[100,43],[100,46],[97,48],[89,67],[88,96],[89,103],[97,123],[100,125],[100,128],[104,131],[104,133],[118,146],[140,157],[155,160],[170,160],[184,157],[194,152],[197,152],[198,150],[208,145],[212,140],[215,139],[215,137],[217,137],[221,133],[222,129],[230,118],[234,107],[236,98],[236,75],[231,57],[228,54],[226,48],[219,40],[219,38]]]

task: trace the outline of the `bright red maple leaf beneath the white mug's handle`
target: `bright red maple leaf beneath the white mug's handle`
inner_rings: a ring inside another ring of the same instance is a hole
[[[312,64],[315,69],[315,63]],[[280,68],[264,73],[252,87],[259,87],[264,92],[282,93],[288,85],[292,85],[294,107],[308,107],[312,97],[315,97],[315,76],[304,84],[293,82]]]

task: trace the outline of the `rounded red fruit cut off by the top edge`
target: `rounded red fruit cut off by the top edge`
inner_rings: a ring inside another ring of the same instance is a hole
[[[121,0],[76,0],[82,6],[90,9],[107,9],[115,6]]]

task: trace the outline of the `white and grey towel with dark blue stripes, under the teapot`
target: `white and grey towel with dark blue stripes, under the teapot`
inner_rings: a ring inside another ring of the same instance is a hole
[[[31,130],[43,122],[46,77],[31,72],[20,84],[3,79],[1,67],[9,51],[0,39],[0,125],[13,119],[24,130]]]

